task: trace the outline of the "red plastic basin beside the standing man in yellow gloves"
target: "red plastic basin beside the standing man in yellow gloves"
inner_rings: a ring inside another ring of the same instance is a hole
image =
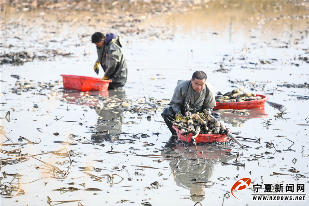
[[[105,91],[108,89],[111,79],[103,80],[94,77],[61,74],[63,87],[80,91]]]

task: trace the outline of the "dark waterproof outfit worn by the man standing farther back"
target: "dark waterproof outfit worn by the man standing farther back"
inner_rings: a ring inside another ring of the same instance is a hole
[[[108,45],[97,47],[98,59],[105,74],[112,82],[109,84],[109,89],[122,87],[127,81],[128,69],[125,62],[125,56],[122,51],[120,37],[116,36]]]

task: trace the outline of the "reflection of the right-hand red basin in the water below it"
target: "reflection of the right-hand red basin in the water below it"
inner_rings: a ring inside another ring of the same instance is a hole
[[[223,121],[224,123],[227,124],[231,124],[233,127],[242,127],[243,123],[253,118],[268,117],[268,114],[265,114],[265,107],[250,109],[249,113],[250,115],[248,116],[237,115],[235,113],[222,113],[221,118],[218,120]]]

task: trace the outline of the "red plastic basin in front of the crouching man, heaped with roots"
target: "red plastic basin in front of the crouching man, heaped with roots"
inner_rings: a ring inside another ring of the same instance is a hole
[[[180,129],[178,129],[175,125],[173,125],[173,128],[176,130],[177,137],[178,139],[185,141],[185,142],[190,142],[191,137],[193,136],[192,133],[189,133],[188,135],[181,135],[183,133]],[[229,130],[229,132],[231,132]],[[227,141],[227,136],[226,134],[199,134],[196,138],[196,143],[200,142],[226,142]]]

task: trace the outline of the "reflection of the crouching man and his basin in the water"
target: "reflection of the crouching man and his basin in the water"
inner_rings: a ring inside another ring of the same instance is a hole
[[[197,146],[198,152],[196,153],[194,146],[188,146],[189,144],[182,145],[182,143],[165,145],[161,155],[182,157],[169,160],[171,170],[174,170],[176,174],[176,184],[179,187],[190,190],[189,199],[194,202],[202,201],[205,198],[204,185],[211,186],[213,184],[211,182],[208,183],[208,181],[212,179],[215,165],[235,159],[235,157],[226,154],[226,152],[229,153],[231,151],[226,146]]]

